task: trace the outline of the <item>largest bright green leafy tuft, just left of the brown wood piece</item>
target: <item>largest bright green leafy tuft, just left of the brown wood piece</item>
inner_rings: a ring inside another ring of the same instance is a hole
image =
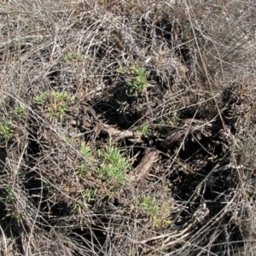
[[[126,172],[131,169],[131,164],[121,153],[121,150],[111,145],[110,142],[106,148],[98,150],[98,156],[102,159],[99,174],[118,184],[125,184],[127,181]]]

